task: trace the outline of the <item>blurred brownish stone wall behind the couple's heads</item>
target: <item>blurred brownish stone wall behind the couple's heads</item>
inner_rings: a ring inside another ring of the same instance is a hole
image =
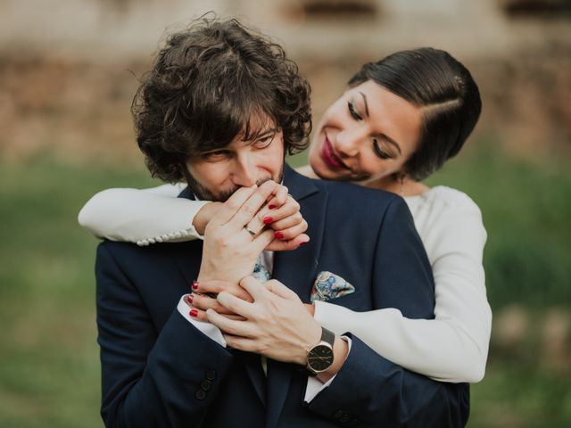
[[[213,10],[285,45],[310,79],[316,119],[362,62],[433,45],[465,62],[480,84],[480,135],[516,152],[568,154],[571,20],[563,6],[571,2],[521,7],[529,3],[0,0],[0,153],[19,158],[55,148],[83,157],[112,148],[128,157],[137,76],[165,30]]]

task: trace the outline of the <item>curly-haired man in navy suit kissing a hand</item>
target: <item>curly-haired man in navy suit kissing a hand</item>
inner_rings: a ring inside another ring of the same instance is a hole
[[[356,310],[380,306],[382,296],[410,317],[431,317],[434,285],[405,202],[285,165],[285,152],[307,144],[310,88],[279,45],[235,20],[198,21],[168,39],[132,110],[153,176],[186,180],[181,197],[224,203],[203,241],[99,246],[107,426],[448,426],[461,418],[454,385],[394,365],[351,333],[335,336],[303,306],[324,270],[351,276],[352,292],[337,303]],[[274,235],[252,221],[272,209],[282,182],[311,239],[259,258]],[[407,296],[401,284],[411,284]],[[191,286],[195,299],[219,293],[207,319],[187,305]],[[226,328],[228,319],[244,330]]]

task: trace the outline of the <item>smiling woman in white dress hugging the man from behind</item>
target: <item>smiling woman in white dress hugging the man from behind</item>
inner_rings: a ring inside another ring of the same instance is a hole
[[[319,122],[310,168],[301,172],[405,199],[433,268],[435,318],[408,319],[397,309],[354,312],[320,300],[308,309],[327,329],[351,331],[405,368],[446,382],[478,382],[492,320],[481,213],[465,193],[421,183],[459,152],[476,126],[476,83],[449,53],[421,48],[365,64],[348,86]],[[139,245],[195,239],[220,202],[175,198],[182,188],[97,193],[79,213],[79,223],[95,235]],[[299,235],[294,228],[277,232],[284,241]]]

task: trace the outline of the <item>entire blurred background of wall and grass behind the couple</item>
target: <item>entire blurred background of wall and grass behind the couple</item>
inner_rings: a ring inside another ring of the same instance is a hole
[[[434,45],[468,65],[481,123],[427,180],[468,193],[488,231],[492,344],[468,426],[571,426],[568,1],[52,6],[0,0],[0,426],[102,426],[96,240],[77,213],[103,188],[158,184],[130,99],[164,28],[209,9],[279,37],[313,86],[316,121],[362,62]]]

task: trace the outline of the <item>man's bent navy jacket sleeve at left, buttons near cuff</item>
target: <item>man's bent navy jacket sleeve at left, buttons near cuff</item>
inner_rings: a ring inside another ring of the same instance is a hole
[[[157,333],[145,301],[105,243],[98,248],[95,273],[105,426],[199,424],[228,373],[228,350],[176,307]]]

